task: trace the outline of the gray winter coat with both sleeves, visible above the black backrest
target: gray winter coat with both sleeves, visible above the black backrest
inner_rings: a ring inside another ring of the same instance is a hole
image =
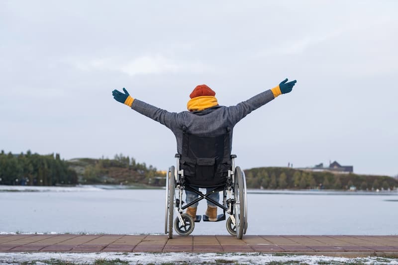
[[[215,106],[203,111],[180,113],[171,113],[135,99],[131,109],[169,128],[176,136],[177,152],[181,154],[183,128],[187,133],[209,136],[224,134],[226,128],[229,127],[231,129],[230,150],[232,150],[233,127],[246,115],[273,99],[274,94],[271,90],[267,90],[236,106]]]

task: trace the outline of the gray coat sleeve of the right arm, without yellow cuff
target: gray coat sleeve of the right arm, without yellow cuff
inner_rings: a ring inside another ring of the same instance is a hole
[[[260,108],[274,99],[274,94],[271,90],[264,91],[246,101],[243,101],[236,106],[227,108],[228,118],[230,122],[235,125],[240,120],[246,117],[252,111]]]

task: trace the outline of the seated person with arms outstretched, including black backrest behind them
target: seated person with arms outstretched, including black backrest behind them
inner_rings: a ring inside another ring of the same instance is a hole
[[[246,115],[267,104],[281,94],[292,91],[295,81],[282,81],[273,89],[264,91],[236,106],[220,106],[215,92],[206,85],[197,86],[190,94],[188,111],[171,113],[132,98],[123,92],[112,91],[113,98],[138,113],[169,128],[177,139],[179,163],[184,170],[189,188],[186,188],[186,203],[199,197],[199,187],[207,188],[209,194],[214,187],[222,186],[231,168],[233,127]],[[220,189],[219,191],[221,191]],[[217,221],[219,192],[206,196],[208,221]],[[186,213],[193,220],[197,217],[198,201],[187,207]]]

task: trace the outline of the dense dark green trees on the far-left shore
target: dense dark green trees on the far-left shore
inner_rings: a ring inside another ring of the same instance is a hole
[[[77,173],[69,169],[60,155],[0,153],[0,184],[51,186],[77,184]]]

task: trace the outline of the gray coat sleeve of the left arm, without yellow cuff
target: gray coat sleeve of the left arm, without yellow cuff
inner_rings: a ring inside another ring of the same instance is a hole
[[[178,113],[168,112],[143,101],[134,99],[131,109],[145,115],[152,120],[159,122],[173,131],[174,128],[181,127],[179,125]]]

